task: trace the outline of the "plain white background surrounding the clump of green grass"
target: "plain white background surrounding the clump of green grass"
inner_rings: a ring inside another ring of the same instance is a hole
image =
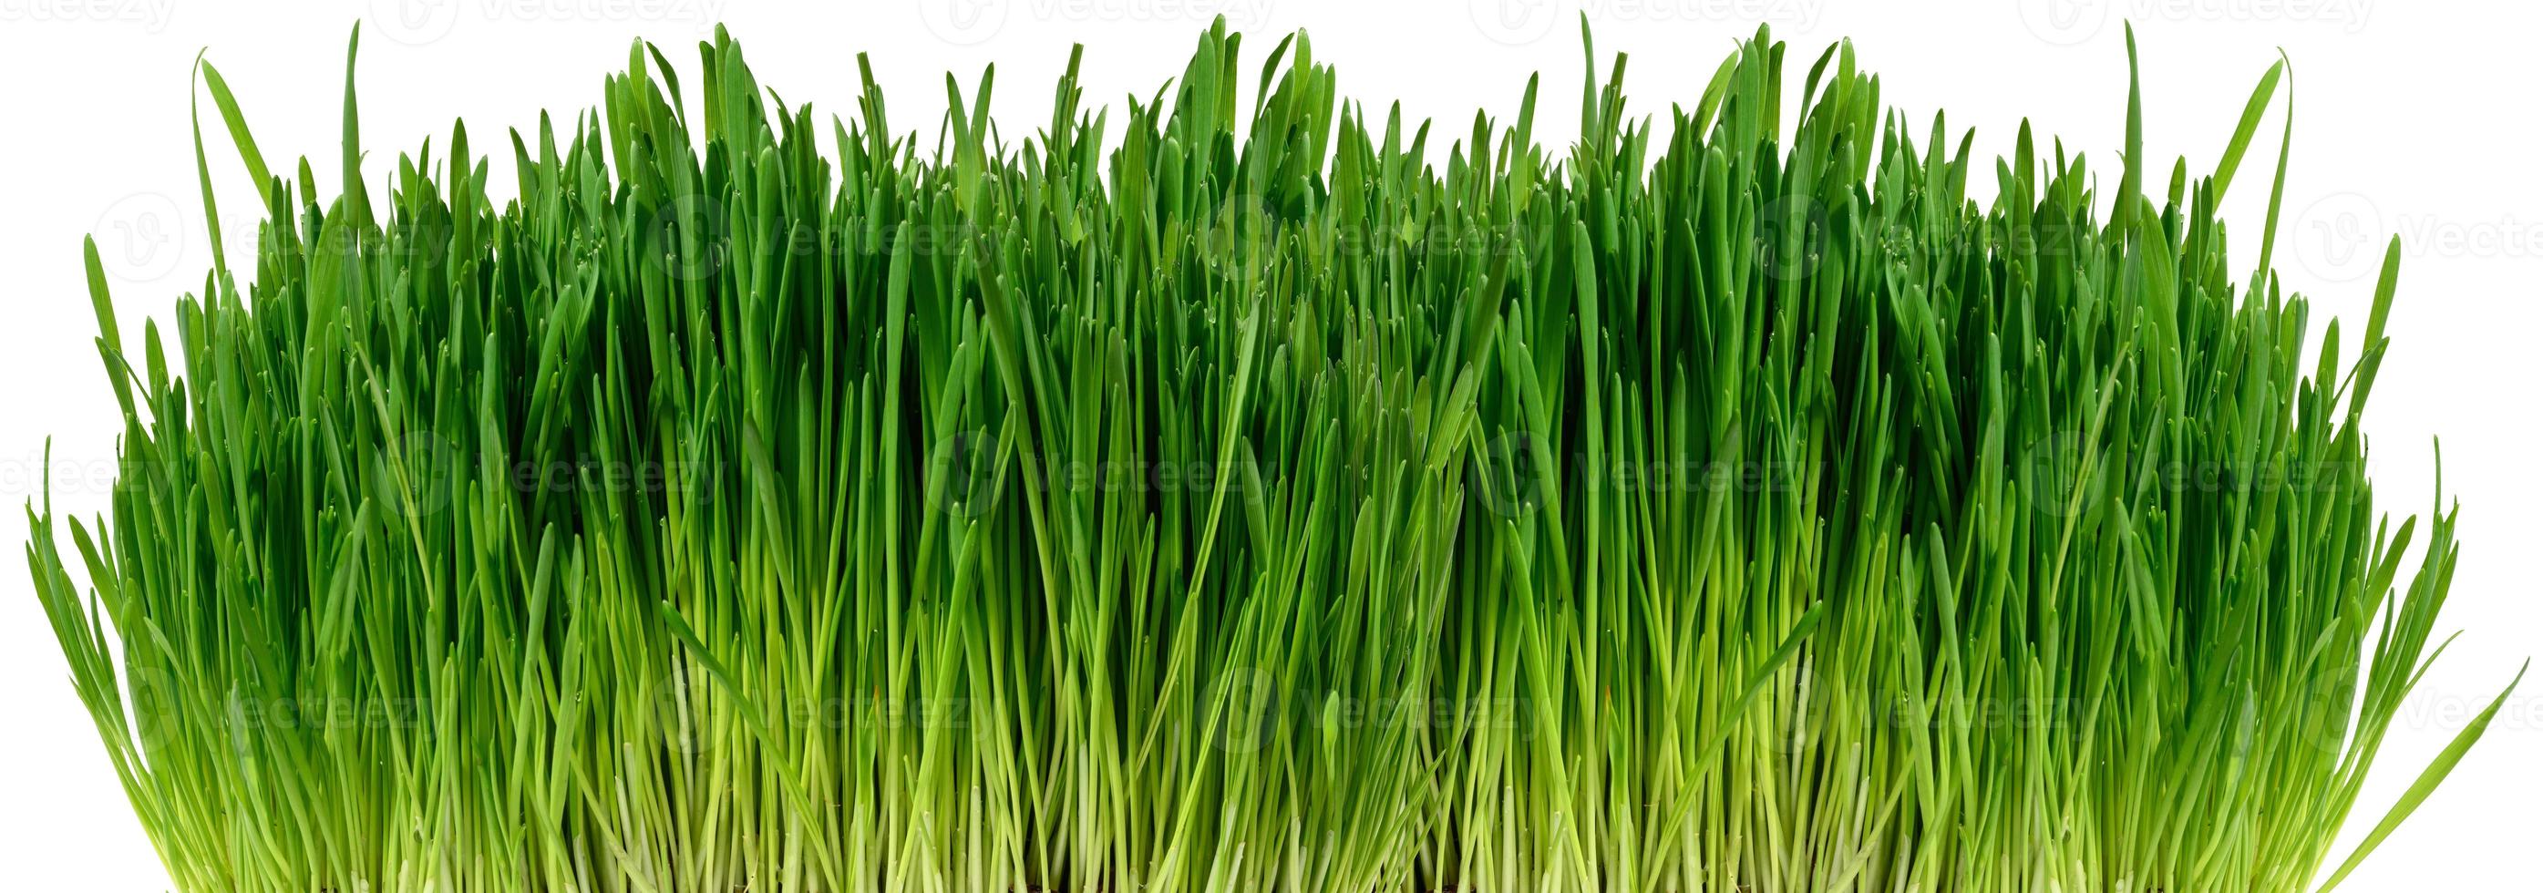
[[[0,0],[0,542],[25,539],[15,511],[38,496],[46,438],[53,504],[104,509],[120,430],[92,346],[79,239],[97,234],[127,341],[168,321],[211,265],[188,135],[196,51],[229,76],[275,170],[310,155],[333,193],[343,36],[361,41],[366,178],[399,150],[448,142],[465,117],[481,153],[539,109],[570,120],[603,74],[648,38],[682,64],[694,99],[694,41],[730,23],[760,81],[788,102],[854,109],[854,53],[870,51],[900,127],[928,132],[943,71],[971,81],[999,64],[994,112],[1010,142],[1050,120],[1068,43],[1086,43],[1088,102],[1152,94],[1182,71],[1193,36],[1226,13],[1259,64],[1279,33],[1310,28],[1345,97],[1465,132],[1475,109],[1511,120],[1531,71],[1546,74],[1541,140],[1569,140],[1579,102],[1577,10],[1600,53],[1628,51],[1635,114],[1691,102],[1734,38],[1760,20],[1793,43],[1790,81],[1826,43],[1854,38],[1882,99],[1910,122],[1948,107],[1978,153],[2012,150],[2029,117],[2116,181],[2126,107],[2121,20],[2144,56],[2146,148],[2207,170],[2258,79],[2294,59],[2296,153],[2281,272],[2327,315],[2365,318],[2388,234],[2403,237],[2393,354],[2368,412],[2383,506],[2426,514],[2431,438],[2444,438],[2446,496],[2464,506],[2462,570],[2439,633],[2464,639],[2426,677],[2385,745],[2334,862],[2518,664],[2543,649],[2543,476],[2533,445],[2543,384],[2543,176],[2535,163],[2533,36],[2543,10],[2510,3],[2375,0],[1981,0],[1910,8],[1877,0]],[[1605,71],[1607,61],[1600,61]],[[206,142],[231,221],[254,226],[252,186],[219,117]],[[824,114],[826,117],[826,114]],[[1116,117],[1119,120],[1119,117]],[[2276,153],[2271,117],[2225,216],[2248,270]],[[1447,140],[1434,140],[1444,145]],[[435,148],[440,150],[440,145]],[[511,153],[491,153],[511,183]],[[440,155],[435,155],[440,158]],[[2149,165],[2149,186],[2169,165]],[[1994,178],[1971,186],[1991,191]],[[2159,191],[2159,186],[2156,186]],[[252,244],[231,247],[231,257]],[[2355,336],[2350,338],[2355,351]],[[2307,366],[2312,369],[2312,366]],[[2416,565],[2416,562],[2413,562]],[[18,567],[0,572],[0,880],[15,890],[165,890],[71,695],[66,664]],[[2406,824],[2352,890],[2533,890],[2543,840],[2543,679]]]

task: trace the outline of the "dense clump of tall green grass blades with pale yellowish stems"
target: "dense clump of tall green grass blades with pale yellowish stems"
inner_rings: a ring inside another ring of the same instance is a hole
[[[351,59],[320,198],[201,66],[259,249],[132,351],[92,244],[125,466],[28,547],[178,888],[2317,880],[2457,542],[2362,476],[2396,252],[2312,369],[2279,183],[2225,265],[2281,66],[2151,196],[2134,92],[2098,191],[1762,28],[1444,168],[1238,48],[923,145],[638,46],[511,201],[364,183]]]

